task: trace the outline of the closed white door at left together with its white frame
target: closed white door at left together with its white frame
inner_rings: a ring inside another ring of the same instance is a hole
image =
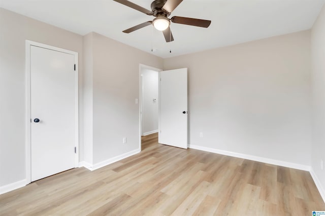
[[[78,166],[78,53],[26,40],[26,179]]]

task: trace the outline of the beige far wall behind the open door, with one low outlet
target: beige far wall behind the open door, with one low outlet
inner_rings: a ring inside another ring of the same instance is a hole
[[[183,67],[190,145],[311,164],[309,30],[164,61]]]

